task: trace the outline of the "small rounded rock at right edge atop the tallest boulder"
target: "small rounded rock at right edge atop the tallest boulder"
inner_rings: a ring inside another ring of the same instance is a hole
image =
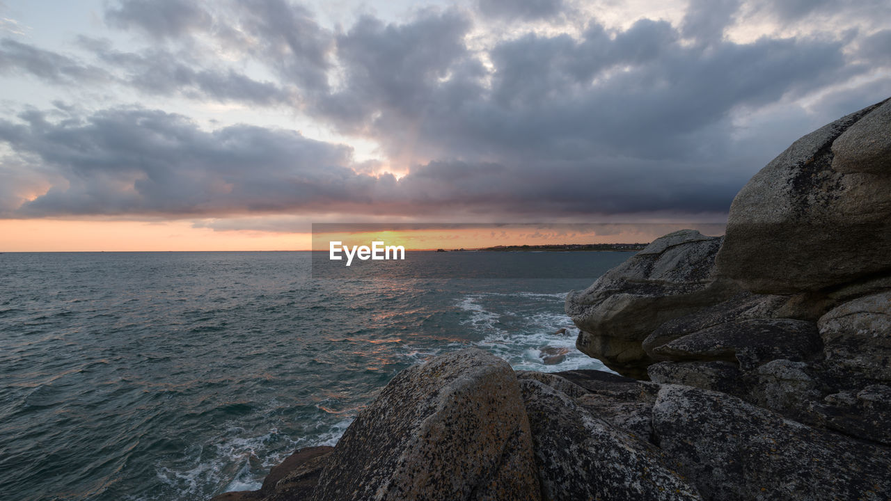
[[[891,100],[838,136],[832,154],[832,168],[838,172],[891,174]]]

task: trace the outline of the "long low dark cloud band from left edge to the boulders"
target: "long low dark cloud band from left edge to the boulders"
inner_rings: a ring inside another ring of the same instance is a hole
[[[16,122],[0,120],[0,142],[14,152],[4,166],[41,166],[0,171],[3,185],[11,186],[2,193],[3,216],[14,218],[337,211],[503,220],[715,211],[722,207],[715,201],[726,203],[736,189],[736,180],[691,180],[695,169],[684,165],[670,166],[685,174],[675,181],[642,182],[651,166],[634,162],[613,165],[612,176],[578,177],[589,166],[434,161],[397,181],[356,174],[349,148],[293,131],[233,126],[205,132],[182,116],[143,109],[83,116],[31,110]]]

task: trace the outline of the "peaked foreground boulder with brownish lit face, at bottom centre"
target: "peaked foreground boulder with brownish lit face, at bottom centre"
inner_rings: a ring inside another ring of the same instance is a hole
[[[538,499],[539,493],[511,366],[464,349],[396,374],[344,433],[312,499]]]

